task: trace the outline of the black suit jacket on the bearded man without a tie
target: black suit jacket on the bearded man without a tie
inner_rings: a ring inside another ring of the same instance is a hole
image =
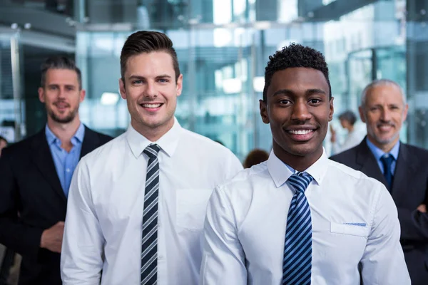
[[[85,127],[81,157],[109,140]],[[22,255],[19,284],[61,284],[60,254],[40,248],[67,206],[45,130],[1,152],[0,177],[0,243]]]

